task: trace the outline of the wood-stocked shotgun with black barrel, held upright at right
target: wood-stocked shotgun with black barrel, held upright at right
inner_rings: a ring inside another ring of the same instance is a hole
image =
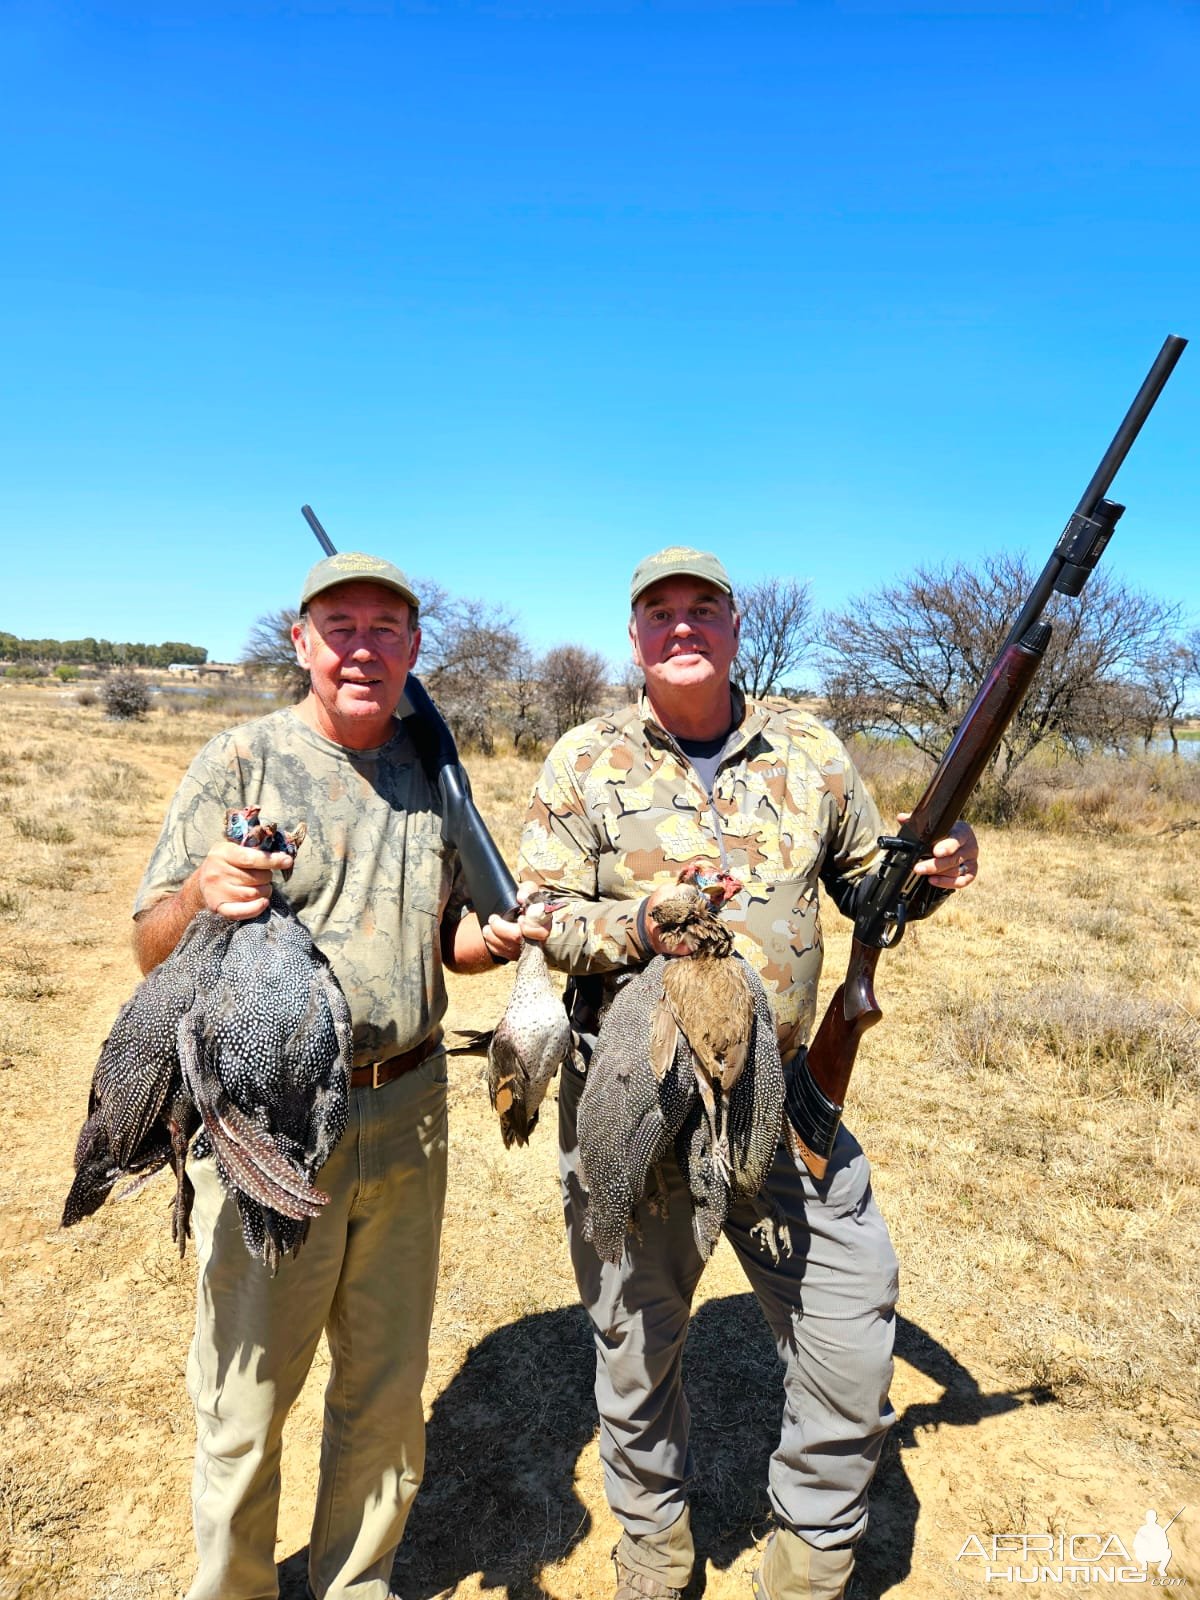
[[[1104,554],[1125,510],[1104,499],[1187,339],[1168,334],[1146,382],[1083,491],[1062,538],[1021,608],[1008,638],[984,677],[979,693],[946,747],[925,794],[894,837],[882,837],[883,859],[874,885],[854,915],[854,938],[845,981],[829,1002],[808,1051],[802,1051],[787,1083],[787,1123],[800,1160],[813,1178],[824,1178],[842,1122],[850,1074],[859,1040],[883,1016],[874,979],[880,950],[904,938],[909,912],[928,901],[928,885],[914,874],[917,861],[946,838],[997,752],[1005,728],[1026,698],[1050,643],[1050,624],[1040,621],[1053,594],[1078,595]]]

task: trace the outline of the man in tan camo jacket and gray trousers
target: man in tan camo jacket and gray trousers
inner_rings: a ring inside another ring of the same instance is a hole
[[[680,1600],[694,1562],[683,1342],[702,1261],[686,1186],[664,1163],[666,1214],[638,1213],[619,1266],[582,1234],[576,1114],[606,997],[629,966],[664,952],[646,912],[688,862],[728,869],[744,890],[723,910],[734,946],[771,997],[784,1062],[806,1042],[821,974],[818,885],[853,915],[883,824],[842,744],[814,718],[755,704],[730,682],[739,618],[722,563],[672,547],[634,573],[629,624],[645,674],[637,706],[562,738],[542,770],[522,838],[523,878],[550,886],[549,960],[571,973],[581,1038],[563,1072],[560,1168],[576,1280],[597,1349],[600,1454],[624,1528],[618,1600]],[[936,891],[974,878],[978,846],[957,824],[917,866]],[[870,1194],[867,1160],[838,1131],[821,1182],[781,1144],[768,1195],[794,1254],[770,1261],[758,1211],[730,1206],[726,1237],[786,1365],[771,1459],[778,1530],[754,1576],[760,1600],[838,1600],[867,1520],[867,1486],[894,1413],[888,1403],[896,1256]]]

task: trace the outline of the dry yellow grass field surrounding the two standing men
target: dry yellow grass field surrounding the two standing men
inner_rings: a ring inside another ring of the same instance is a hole
[[[118,725],[0,690],[3,1600],[150,1600],[189,1578],[192,1261],[171,1246],[170,1179],[70,1232],[58,1218],[96,1051],[136,979],[134,885],[182,766],[227,720]],[[474,762],[472,776],[512,851],[531,766]],[[1200,1581],[1200,805],[1170,763],[1114,766],[1090,802],[1069,778],[1046,784],[1053,830],[982,829],[979,886],[880,963],[886,1021],[846,1120],[902,1262],[899,1422],[854,1600],[1010,1594],[957,1558],[971,1534],[1131,1547],[1147,1507],[1160,1522],[1186,1507],[1168,1576],[1176,1592]],[[838,922],[826,990],[845,962]],[[450,1026],[490,1026],[509,982],[454,981]],[[429,1467],[395,1587],[606,1600],[616,1531],[554,1139],[542,1126],[506,1152],[480,1067],[451,1066]],[[288,1426],[288,1600],[304,1589],[323,1378],[318,1363]],[[746,1597],[781,1390],[725,1246],[688,1382],[704,1557],[691,1594]]]

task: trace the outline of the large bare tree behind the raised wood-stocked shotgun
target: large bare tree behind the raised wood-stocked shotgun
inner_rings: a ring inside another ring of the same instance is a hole
[[[834,726],[910,739],[939,757],[1032,589],[1026,563],[917,573],[827,619],[824,686]],[[1080,600],[1054,597],[1046,656],[995,760],[1006,786],[1046,741],[1074,754],[1123,746],[1138,718],[1141,662],[1170,637],[1178,610],[1096,573]]]

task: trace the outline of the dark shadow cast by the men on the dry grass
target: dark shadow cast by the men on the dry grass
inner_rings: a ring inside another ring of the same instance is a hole
[[[939,1382],[942,1394],[909,1406],[888,1440],[853,1600],[875,1600],[909,1574],[918,1501],[904,1451],[915,1446],[917,1430],[971,1427],[1053,1398],[1050,1390],[982,1394],[944,1346],[904,1317],[896,1322],[896,1354]],[[392,1574],[403,1600],[453,1594],[474,1574],[504,1600],[546,1595],[542,1570],[590,1531],[573,1482],[595,1434],[592,1379],[592,1336],[579,1307],[523,1317],[475,1346],[429,1419],[426,1480]],[[696,1459],[696,1568],[701,1574],[707,1560],[725,1571],[771,1526],[766,1467],[779,1437],[782,1366],[754,1294],[699,1307],[685,1381]],[[304,1600],[306,1558],[299,1550],[280,1568],[282,1600]],[[688,1600],[702,1592],[698,1576]]]

